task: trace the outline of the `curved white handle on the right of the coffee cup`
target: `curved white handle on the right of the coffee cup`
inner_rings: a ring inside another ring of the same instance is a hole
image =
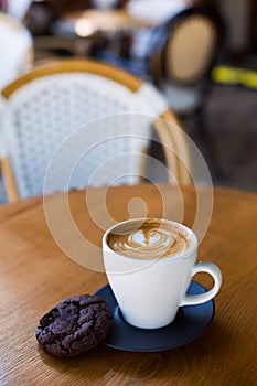
[[[211,290],[200,294],[185,294],[182,299],[180,305],[195,305],[205,303],[206,301],[213,299],[217,294],[222,286],[222,272],[221,269],[213,262],[199,261],[194,265],[192,276],[197,272],[210,274],[214,279],[214,286]]]

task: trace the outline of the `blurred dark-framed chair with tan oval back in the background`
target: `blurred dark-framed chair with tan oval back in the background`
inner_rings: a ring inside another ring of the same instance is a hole
[[[181,119],[197,119],[197,130],[208,146],[217,172],[216,150],[204,108],[212,87],[212,68],[224,55],[223,20],[213,9],[189,8],[157,29],[153,42],[150,56],[153,83]]]

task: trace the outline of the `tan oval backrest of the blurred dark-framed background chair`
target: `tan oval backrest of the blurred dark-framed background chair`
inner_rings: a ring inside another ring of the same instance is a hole
[[[224,24],[210,8],[189,8],[158,31],[151,71],[156,82],[167,78],[181,85],[195,85],[208,72],[224,41]]]

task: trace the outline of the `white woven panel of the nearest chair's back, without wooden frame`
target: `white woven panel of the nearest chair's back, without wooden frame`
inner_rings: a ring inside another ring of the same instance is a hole
[[[63,189],[62,173],[67,169],[65,162],[76,157],[83,147],[87,149],[88,143],[100,141],[100,135],[97,136],[103,130],[109,140],[93,146],[79,160],[68,187],[108,184],[115,175],[124,178],[114,183],[138,182],[140,158],[130,157],[129,161],[124,158],[121,162],[122,158],[116,159],[116,156],[141,152],[147,140],[129,137],[129,133],[131,130],[135,132],[135,125],[139,125],[138,133],[148,137],[150,124],[167,109],[167,104],[152,86],[144,83],[137,92],[132,92],[107,76],[73,72],[34,78],[18,88],[7,99],[6,107],[4,150],[11,159],[19,196],[28,197],[42,194],[49,161],[60,143],[86,122],[90,128],[86,135],[71,142],[71,146],[67,141],[63,148],[60,168],[47,192]],[[139,122],[138,116],[119,115],[121,112],[147,115],[150,118],[142,118]],[[118,116],[110,118],[114,115]],[[100,117],[107,118],[96,120]],[[120,133],[128,137],[113,138]],[[94,171],[108,160],[111,160],[110,167],[90,180]]]

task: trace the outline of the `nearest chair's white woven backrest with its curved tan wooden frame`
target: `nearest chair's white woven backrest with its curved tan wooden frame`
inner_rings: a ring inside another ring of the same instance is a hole
[[[42,194],[49,162],[61,143],[66,143],[62,148],[61,168],[58,165],[47,193],[64,189],[61,174],[73,159],[79,162],[71,178],[69,189],[108,184],[108,170],[97,180],[90,180],[94,171],[117,154],[131,151],[139,154],[148,146],[150,127],[158,117],[165,120],[158,124],[158,136],[169,147],[163,148],[168,167],[173,169],[178,181],[189,182],[189,175],[170,151],[172,148],[178,153],[183,152],[182,158],[188,162],[182,130],[176,130],[180,138],[174,140],[165,124],[178,126],[175,116],[167,109],[165,100],[153,86],[119,68],[87,60],[51,62],[11,83],[2,90],[2,97],[7,156],[2,160],[2,170],[7,170],[6,175],[13,174],[8,179],[11,200]],[[74,142],[74,132],[85,124],[88,128],[86,135],[78,136]],[[139,140],[135,140],[135,128]],[[77,160],[83,149],[88,154]],[[125,176],[118,183],[139,181],[140,160],[135,156],[130,161],[117,160],[115,167],[109,168],[111,176],[114,169],[117,175]]]

